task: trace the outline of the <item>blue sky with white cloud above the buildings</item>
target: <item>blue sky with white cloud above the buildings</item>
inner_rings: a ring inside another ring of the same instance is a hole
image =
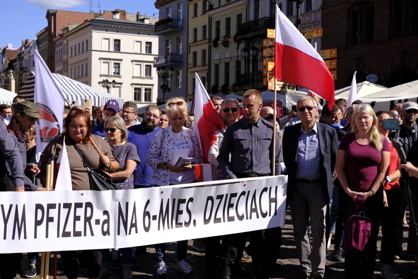
[[[13,43],[18,48],[25,39],[35,40],[36,33],[47,26],[48,9],[89,12],[90,0],[2,0],[0,17],[0,46]],[[158,17],[155,0],[100,0],[100,9],[126,10],[127,13]],[[93,0],[93,11],[97,12],[99,0]]]

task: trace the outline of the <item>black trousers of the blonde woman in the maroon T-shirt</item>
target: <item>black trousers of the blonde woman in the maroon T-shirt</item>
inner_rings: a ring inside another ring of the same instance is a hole
[[[379,191],[366,199],[366,216],[371,219],[371,233],[365,249],[360,254],[345,252],[345,278],[372,279],[377,251],[377,235],[379,233],[382,211],[383,192]]]

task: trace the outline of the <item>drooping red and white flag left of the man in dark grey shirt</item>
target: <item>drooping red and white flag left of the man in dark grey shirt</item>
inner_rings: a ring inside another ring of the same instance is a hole
[[[194,126],[195,132],[199,138],[202,148],[203,163],[208,162],[208,153],[210,146],[216,141],[217,130],[225,127],[221,117],[215,110],[212,101],[206,92],[199,75],[195,73],[196,91],[194,93]]]

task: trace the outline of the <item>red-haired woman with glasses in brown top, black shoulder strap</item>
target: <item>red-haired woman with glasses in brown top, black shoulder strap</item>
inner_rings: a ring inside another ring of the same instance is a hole
[[[102,152],[102,156],[99,157],[90,140],[90,136]],[[102,137],[91,135],[91,121],[87,113],[74,107],[65,118],[65,132],[63,135],[53,139],[41,156],[40,168],[41,181],[43,183],[45,183],[49,154],[52,154],[54,162],[56,162],[63,148],[64,138],[74,191],[90,190],[87,169],[83,166],[81,157],[74,147],[75,145],[77,145],[91,170],[99,173],[102,171],[113,173],[119,169],[118,160],[109,144]],[[101,250],[61,251],[61,258],[67,278],[77,278],[80,266],[88,269],[90,278],[99,278],[100,263],[102,261]]]

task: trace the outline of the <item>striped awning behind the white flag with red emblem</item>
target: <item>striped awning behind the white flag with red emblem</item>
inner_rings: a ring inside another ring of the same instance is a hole
[[[96,88],[88,86],[86,84],[79,83],[68,77],[52,74],[53,79],[56,84],[61,88],[65,98],[71,103],[72,101],[78,101],[79,104],[82,104],[83,99],[92,99],[93,106],[99,107],[104,105],[108,100],[117,100],[119,105],[122,106],[123,99],[108,94],[106,92],[100,91]],[[30,75],[25,84],[22,86],[19,91],[19,95],[23,95],[27,101],[33,102],[33,94],[35,88],[35,76]]]

